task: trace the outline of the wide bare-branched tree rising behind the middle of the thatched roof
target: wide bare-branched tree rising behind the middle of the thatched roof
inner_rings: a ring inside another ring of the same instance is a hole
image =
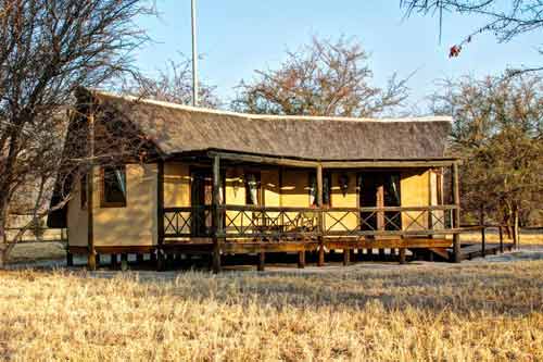
[[[370,117],[402,104],[406,80],[393,75],[387,88],[370,85],[368,54],[355,41],[313,38],[288,51],[277,70],[256,71],[241,82],[232,108],[241,112]]]

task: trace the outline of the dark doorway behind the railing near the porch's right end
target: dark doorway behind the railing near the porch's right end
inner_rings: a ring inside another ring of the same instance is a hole
[[[400,174],[366,172],[358,177],[358,197],[361,208],[400,207]],[[400,211],[361,212],[362,230],[400,230],[402,213]]]

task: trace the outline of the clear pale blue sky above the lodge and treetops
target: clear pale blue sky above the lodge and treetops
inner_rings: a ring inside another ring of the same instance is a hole
[[[148,75],[169,60],[179,61],[181,53],[191,55],[190,0],[156,0],[156,7],[159,16],[138,20],[152,38],[136,54]],[[404,15],[400,0],[197,0],[198,48],[203,57],[199,76],[228,102],[241,79],[252,79],[255,70],[277,68],[286,50],[298,49],[313,36],[344,35],[369,52],[374,86],[386,86],[394,72],[399,77],[413,74],[411,104],[420,111],[438,79],[498,75],[507,66],[541,62],[540,32],[508,43],[480,35],[460,57],[450,59],[449,48],[484,18],[445,13],[440,42],[437,16]]]

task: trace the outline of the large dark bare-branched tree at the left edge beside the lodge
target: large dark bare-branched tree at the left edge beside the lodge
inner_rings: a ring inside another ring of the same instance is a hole
[[[0,266],[18,192],[31,185],[23,204],[43,215],[66,158],[84,162],[62,151],[74,91],[132,71],[129,54],[147,39],[132,21],[149,12],[141,0],[0,0]]]

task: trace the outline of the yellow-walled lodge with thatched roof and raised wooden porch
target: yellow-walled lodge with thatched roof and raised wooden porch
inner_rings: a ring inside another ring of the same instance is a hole
[[[376,249],[400,262],[406,250],[459,261],[450,117],[253,115],[98,91],[75,109],[66,142],[92,155],[105,129],[108,143],[139,152],[91,158],[49,217],[90,267],[96,255],[129,253],[159,267],[204,254],[215,272],[235,254],[257,255],[261,269],[268,253],[296,254],[303,267],[308,253],[324,265],[334,250],[346,263]]]

